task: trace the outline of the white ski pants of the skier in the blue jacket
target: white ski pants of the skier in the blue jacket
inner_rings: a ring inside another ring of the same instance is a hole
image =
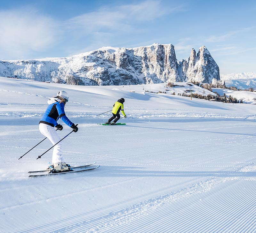
[[[52,145],[55,145],[58,141],[60,141],[60,137],[58,136],[54,127],[48,124],[40,123],[39,131],[51,141]],[[53,147],[52,164],[57,162],[63,162],[62,142],[59,142],[55,147]]]

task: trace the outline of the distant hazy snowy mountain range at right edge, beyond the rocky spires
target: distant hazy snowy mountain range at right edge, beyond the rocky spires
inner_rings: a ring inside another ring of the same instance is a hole
[[[221,74],[220,79],[225,80],[226,86],[235,86],[240,89],[256,89],[256,73],[254,72]]]

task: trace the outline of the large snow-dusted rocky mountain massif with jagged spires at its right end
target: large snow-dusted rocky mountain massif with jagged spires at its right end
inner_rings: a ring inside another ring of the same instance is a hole
[[[219,67],[202,46],[177,61],[172,44],[134,49],[103,47],[67,58],[0,61],[0,76],[79,85],[132,85],[220,80]]]

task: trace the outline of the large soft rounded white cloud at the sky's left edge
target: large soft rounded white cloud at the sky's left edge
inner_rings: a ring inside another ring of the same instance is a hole
[[[43,51],[56,40],[54,20],[42,16],[35,9],[0,11],[0,52],[24,56]]]

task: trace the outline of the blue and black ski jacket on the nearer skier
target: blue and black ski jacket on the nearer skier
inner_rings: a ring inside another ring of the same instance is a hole
[[[73,124],[65,114],[64,111],[64,103],[63,102],[55,102],[49,104],[44,115],[42,116],[40,123],[51,125],[52,127],[56,126],[57,121],[61,118],[65,124],[69,127]]]

